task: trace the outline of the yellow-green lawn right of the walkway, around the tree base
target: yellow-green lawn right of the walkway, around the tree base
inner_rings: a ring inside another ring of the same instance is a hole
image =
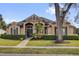
[[[79,46],[79,40],[65,40],[65,43],[54,43],[54,40],[30,40],[27,46]]]

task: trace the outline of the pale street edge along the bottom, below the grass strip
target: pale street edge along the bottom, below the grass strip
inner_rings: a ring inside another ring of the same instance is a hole
[[[73,54],[4,54],[0,53],[0,56],[75,56]]]

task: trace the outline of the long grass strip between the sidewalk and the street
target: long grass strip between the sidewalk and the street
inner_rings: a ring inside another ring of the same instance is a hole
[[[17,54],[73,54],[79,55],[79,49],[74,48],[0,48],[0,53]]]

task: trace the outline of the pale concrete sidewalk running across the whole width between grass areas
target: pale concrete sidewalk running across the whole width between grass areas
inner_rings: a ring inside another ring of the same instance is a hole
[[[0,46],[0,48],[77,48],[79,47],[68,47],[68,46]]]

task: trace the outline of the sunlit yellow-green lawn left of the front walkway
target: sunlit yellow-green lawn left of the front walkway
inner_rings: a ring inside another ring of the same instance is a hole
[[[8,40],[8,39],[1,39],[0,38],[0,46],[16,46],[19,44],[21,40]]]

